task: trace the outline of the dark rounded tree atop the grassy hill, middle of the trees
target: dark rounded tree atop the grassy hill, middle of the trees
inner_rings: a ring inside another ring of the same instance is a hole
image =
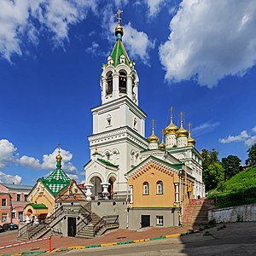
[[[224,167],[224,179],[228,180],[239,172],[239,166],[241,165],[241,159],[236,155],[229,155],[221,160]]]

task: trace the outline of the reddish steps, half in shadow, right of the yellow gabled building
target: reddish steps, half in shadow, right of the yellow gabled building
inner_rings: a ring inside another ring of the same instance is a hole
[[[208,223],[208,211],[212,209],[213,201],[206,199],[191,199],[183,208],[183,226],[199,227]]]

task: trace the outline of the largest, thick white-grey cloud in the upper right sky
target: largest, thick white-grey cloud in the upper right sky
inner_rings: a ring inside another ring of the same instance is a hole
[[[212,87],[226,76],[243,76],[256,61],[254,0],[183,0],[160,45],[166,79],[195,79]]]

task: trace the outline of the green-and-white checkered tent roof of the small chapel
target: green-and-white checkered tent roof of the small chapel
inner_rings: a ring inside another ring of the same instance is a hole
[[[58,194],[70,183],[70,178],[61,169],[61,162],[57,162],[57,168],[50,173],[49,177],[41,180],[52,195]]]

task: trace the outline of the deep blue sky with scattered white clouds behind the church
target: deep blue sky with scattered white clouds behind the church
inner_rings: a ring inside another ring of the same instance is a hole
[[[100,104],[114,14],[139,75],[146,136],[180,111],[196,148],[238,155],[256,143],[253,0],[23,0],[0,2],[0,181],[34,184],[55,169],[79,181],[90,159],[90,108]]]

